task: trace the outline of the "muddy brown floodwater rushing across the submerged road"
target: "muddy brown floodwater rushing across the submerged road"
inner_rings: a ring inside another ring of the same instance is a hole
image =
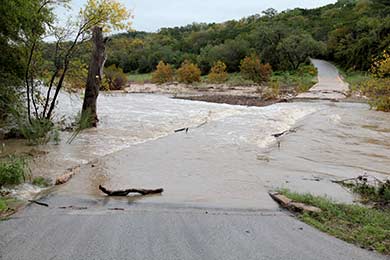
[[[390,115],[364,104],[243,107],[117,93],[102,94],[98,106],[97,129],[83,132],[71,145],[64,133],[60,145],[38,147],[49,153],[34,160],[34,175],[55,178],[83,164],[56,191],[59,195],[103,198],[99,185],[162,187],[161,196],[119,200],[273,209],[271,189],[351,202],[351,194],[331,180],[390,175]],[[63,95],[58,116],[74,115],[80,107],[80,97]],[[189,132],[174,133],[183,127]],[[293,131],[272,136],[287,130]]]

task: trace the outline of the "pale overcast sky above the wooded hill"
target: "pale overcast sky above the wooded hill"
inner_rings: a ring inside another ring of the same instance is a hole
[[[73,0],[78,11],[86,0]],[[313,8],[332,0],[122,0],[134,14],[133,29],[154,32],[161,27],[187,25],[193,22],[223,22],[261,13],[268,8],[278,11],[295,7]],[[60,14],[65,16],[64,14]]]

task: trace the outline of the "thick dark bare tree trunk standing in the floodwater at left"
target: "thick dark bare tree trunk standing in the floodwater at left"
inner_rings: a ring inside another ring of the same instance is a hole
[[[90,114],[91,126],[96,127],[98,120],[96,102],[103,78],[106,61],[106,41],[101,27],[94,27],[92,32],[93,51],[88,68],[87,86],[85,88],[82,114]]]

